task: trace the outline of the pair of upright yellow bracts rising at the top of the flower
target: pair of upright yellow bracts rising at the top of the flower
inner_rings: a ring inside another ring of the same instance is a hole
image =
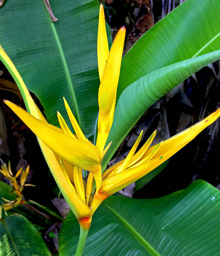
[[[113,123],[117,86],[121,68],[121,58],[125,41],[125,27],[119,29],[109,52],[105,28],[103,5],[100,4],[97,38],[97,56],[99,69],[99,116],[96,146],[103,152]]]

